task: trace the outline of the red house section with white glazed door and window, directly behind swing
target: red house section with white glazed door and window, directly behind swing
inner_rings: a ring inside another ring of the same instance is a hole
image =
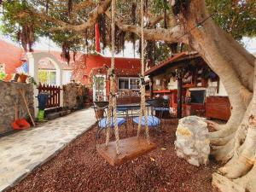
[[[82,55],[73,67],[73,80],[90,87],[93,100],[105,100],[109,95],[108,67],[111,58],[102,55]],[[139,90],[140,59],[115,58],[117,91]]]

